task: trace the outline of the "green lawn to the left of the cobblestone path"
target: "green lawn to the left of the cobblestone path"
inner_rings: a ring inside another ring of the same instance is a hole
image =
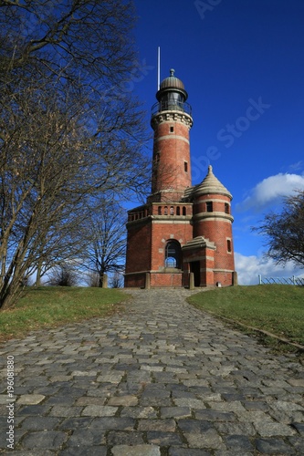
[[[28,288],[15,307],[0,312],[0,341],[24,337],[36,329],[109,315],[128,297],[110,288]]]

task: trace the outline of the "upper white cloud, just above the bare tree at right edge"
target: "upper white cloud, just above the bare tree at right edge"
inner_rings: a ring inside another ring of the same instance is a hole
[[[282,172],[269,176],[250,191],[243,202],[236,204],[237,211],[256,209],[257,211],[273,202],[278,202],[282,196],[289,196],[295,190],[304,190],[304,176]]]

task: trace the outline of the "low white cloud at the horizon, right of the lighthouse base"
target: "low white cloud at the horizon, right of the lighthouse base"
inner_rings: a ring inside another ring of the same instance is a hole
[[[288,262],[285,267],[276,265],[273,260],[265,259],[262,256],[235,253],[236,271],[239,285],[257,285],[258,275],[263,277],[285,277],[292,275],[304,275],[303,269],[295,267],[295,264]]]

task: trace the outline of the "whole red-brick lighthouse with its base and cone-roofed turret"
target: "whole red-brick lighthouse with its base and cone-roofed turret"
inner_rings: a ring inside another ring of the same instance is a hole
[[[128,212],[126,287],[235,285],[232,195],[208,168],[192,185],[192,108],[173,69],[152,106],[152,192]]]

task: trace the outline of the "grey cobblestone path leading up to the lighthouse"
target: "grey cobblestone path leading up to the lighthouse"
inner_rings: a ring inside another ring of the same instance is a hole
[[[0,348],[3,453],[304,455],[304,368],[295,358],[189,306],[189,291],[131,293],[114,316]],[[16,369],[11,409],[7,356]]]

